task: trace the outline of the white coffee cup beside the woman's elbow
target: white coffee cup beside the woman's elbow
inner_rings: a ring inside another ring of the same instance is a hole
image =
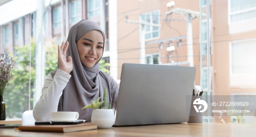
[[[52,112],[52,119],[53,121],[74,121],[77,120],[79,117],[78,112]]]

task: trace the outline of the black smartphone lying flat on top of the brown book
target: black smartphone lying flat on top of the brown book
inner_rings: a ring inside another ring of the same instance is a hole
[[[85,120],[75,121],[35,121],[35,125],[73,125],[85,122]]]

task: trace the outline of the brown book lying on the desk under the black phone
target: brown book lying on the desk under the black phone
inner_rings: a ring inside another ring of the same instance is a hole
[[[40,132],[77,132],[84,130],[97,129],[97,124],[94,123],[82,123],[75,125],[21,125],[19,130],[21,131],[40,131]]]

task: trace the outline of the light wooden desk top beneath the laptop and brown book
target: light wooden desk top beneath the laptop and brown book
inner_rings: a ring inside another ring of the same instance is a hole
[[[180,123],[143,126],[122,126],[71,133],[23,132],[0,129],[8,137],[255,137],[256,125],[221,123]]]

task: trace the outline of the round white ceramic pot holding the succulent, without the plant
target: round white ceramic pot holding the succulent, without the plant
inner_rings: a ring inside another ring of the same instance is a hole
[[[97,123],[98,128],[111,128],[114,124],[113,109],[94,109],[91,122]]]

